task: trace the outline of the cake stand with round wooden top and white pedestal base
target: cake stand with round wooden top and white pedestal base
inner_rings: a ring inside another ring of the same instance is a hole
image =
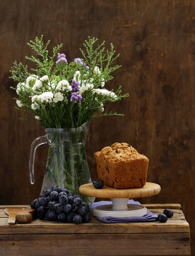
[[[81,185],[79,192],[83,195],[96,198],[111,198],[112,204],[101,205],[93,209],[96,217],[138,217],[147,213],[146,207],[138,204],[128,204],[129,198],[142,198],[157,195],[161,187],[156,183],[146,182],[143,188],[139,189],[114,189],[103,186],[102,189],[95,189],[92,183]]]

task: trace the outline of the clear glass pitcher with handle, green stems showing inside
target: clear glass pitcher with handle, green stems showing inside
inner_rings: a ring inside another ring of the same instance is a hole
[[[86,203],[92,203],[89,198],[79,193],[79,187],[91,183],[88,161],[86,157],[86,138],[89,131],[89,122],[78,128],[45,129],[45,136],[38,137],[31,145],[29,159],[30,183],[34,184],[34,160],[39,145],[49,144],[46,162],[46,172],[43,179],[43,190],[52,185],[69,189],[69,193],[80,195]]]

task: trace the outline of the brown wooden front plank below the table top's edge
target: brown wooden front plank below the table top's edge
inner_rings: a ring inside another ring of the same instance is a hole
[[[0,235],[0,248],[5,256],[190,254],[188,233]]]

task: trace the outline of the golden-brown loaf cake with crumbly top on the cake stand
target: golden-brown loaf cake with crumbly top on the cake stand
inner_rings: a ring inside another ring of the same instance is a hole
[[[141,188],[146,184],[149,159],[127,143],[114,143],[94,154],[98,179],[115,189]]]

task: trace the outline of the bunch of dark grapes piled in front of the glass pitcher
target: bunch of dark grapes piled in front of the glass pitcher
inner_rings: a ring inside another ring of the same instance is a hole
[[[32,201],[31,208],[37,210],[40,220],[46,218],[49,221],[75,224],[91,221],[89,205],[79,195],[73,195],[60,186],[44,190],[40,198]]]

